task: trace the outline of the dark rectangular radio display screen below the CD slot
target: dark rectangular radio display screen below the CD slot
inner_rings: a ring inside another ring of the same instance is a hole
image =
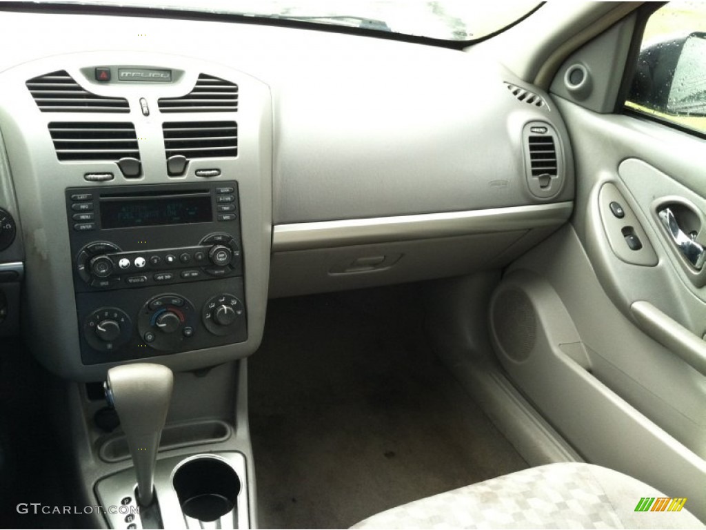
[[[210,195],[111,199],[100,203],[101,228],[208,223],[213,220]]]

